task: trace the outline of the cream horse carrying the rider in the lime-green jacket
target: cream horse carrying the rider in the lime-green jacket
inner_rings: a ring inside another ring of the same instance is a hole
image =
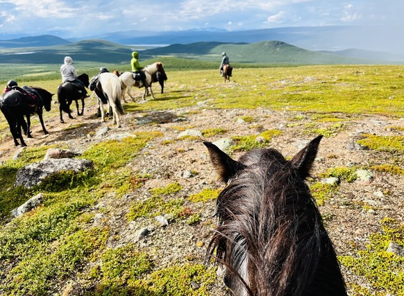
[[[151,96],[152,96],[152,98],[155,98],[154,94],[153,94],[153,90],[151,89],[151,83],[153,82],[153,75],[155,75],[158,72],[161,73],[162,77],[167,77],[163,64],[162,64],[162,62],[155,62],[153,64],[149,64],[149,66],[144,67],[144,69],[142,69],[142,71],[144,71],[144,74],[146,75],[146,82],[149,85]],[[164,78],[162,78],[162,79],[164,80]],[[135,98],[131,95],[131,89],[133,86],[139,87],[139,88],[144,87],[143,82],[136,81],[135,78],[133,78],[133,72],[128,72],[128,71],[122,73],[121,76],[119,76],[119,80],[121,80],[123,94],[125,93],[125,91],[127,89],[128,95],[132,98],[132,101],[135,101]],[[144,94],[142,96],[143,99],[146,97],[146,92],[147,92],[147,88],[144,89]]]

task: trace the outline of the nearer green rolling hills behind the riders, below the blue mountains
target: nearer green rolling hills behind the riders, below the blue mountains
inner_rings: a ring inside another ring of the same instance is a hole
[[[58,46],[42,46],[9,49],[0,54],[0,63],[8,64],[61,64],[65,55],[71,55],[81,62],[108,64],[128,64],[133,46],[121,45],[106,40],[83,40]],[[140,49],[138,49],[140,51]],[[298,46],[280,41],[255,43],[196,42],[192,44],[171,44],[169,46],[140,51],[144,60],[163,60],[167,57],[199,60],[203,62],[221,61],[221,53],[226,51],[230,62],[239,64],[388,64],[382,60],[351,58],[349,56],[308,51]],[[392,62],[390,62],[392,63]]]

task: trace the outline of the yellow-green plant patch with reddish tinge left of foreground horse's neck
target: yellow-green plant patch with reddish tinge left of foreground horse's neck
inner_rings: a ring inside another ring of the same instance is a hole
[[[133,202],[126,217],[135,220],[140,217],[155,217],[162,214],[170,214],[178,218],[184,211],[182,198],[173,198],[173,195],[183,189],[178,183],[169,184],[166,187],[151,189],[151,197],[147,200]]]

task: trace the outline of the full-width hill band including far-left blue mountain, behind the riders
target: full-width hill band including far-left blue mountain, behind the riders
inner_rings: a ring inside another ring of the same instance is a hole
[[[286,42],[194,42],[168,46],[124,45],[106,40],[71,42],[42,35],[0,41],[0,63],[60,64],[69,54],[74,60],[108,64],[128,64],[131,51],[142,51],[141,60],[174,57],[220,62],[226,51],[231,62],[242,64],[404,64],[404,55],[347,49],[309,51]]]

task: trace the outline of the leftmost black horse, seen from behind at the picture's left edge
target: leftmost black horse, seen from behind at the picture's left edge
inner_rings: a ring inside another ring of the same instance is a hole
[[[25,147],[26,143],[22,137],[21,128],[24,129],[24,133],[28,138],[32,138],[30,130],[31,114],[38,114],[44,134],[49,134],[44,125],[42,112],[43,107],[48,112],[51,110],[53,94],[48,92],[46,89],[42,89],[41,87],[23,86],[22,89],[24,89],[26,92],[34,94],[35,97],[26,98],[22,92],[19,92],[18,90],[11,90],[0,97],[0,109],[6,117],[15,146],[19,145],[19,139],[21,146]],[[26,121],[24,120],[24,116],[26,116]]]

